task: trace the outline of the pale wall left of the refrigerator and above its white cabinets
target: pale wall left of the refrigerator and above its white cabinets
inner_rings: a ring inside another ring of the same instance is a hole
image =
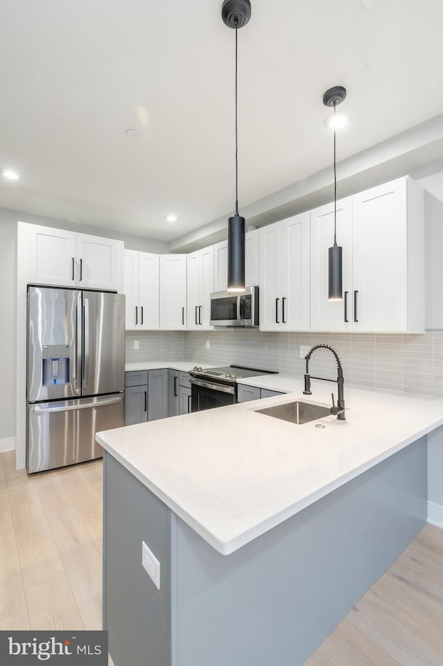
[[[168,244],[162,240],[118,234],[98,227],[77,225],[66,220],[0,208],[0,451],[15,447],[15,394],[17,313],[17,222],[80,231],[106,238],[123,240],[125,247],[143,252],[168,254]],[[25,353],[25,351],[24,351]]]

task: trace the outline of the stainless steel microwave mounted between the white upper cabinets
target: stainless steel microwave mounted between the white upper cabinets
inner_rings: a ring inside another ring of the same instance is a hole
[[[241,294],[216,291],[210,295],[211,326],[258,326],[258,287]]]

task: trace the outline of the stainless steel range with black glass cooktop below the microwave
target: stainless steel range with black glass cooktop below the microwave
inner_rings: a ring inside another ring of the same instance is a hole
[[[264,374],[277,374],[274,370],[229,365],[221,368],[195,366],[191,376],[191,411],[201,412],[237,402],[237,380]]]

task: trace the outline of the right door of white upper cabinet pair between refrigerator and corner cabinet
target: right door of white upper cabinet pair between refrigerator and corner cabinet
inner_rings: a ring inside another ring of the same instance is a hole
[[[159,255],[138,253],[138,306],[140,328],[159,328]]]

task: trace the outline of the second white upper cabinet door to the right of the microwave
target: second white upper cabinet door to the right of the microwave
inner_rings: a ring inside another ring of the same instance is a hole
[[[309,331],[309,212],[279,222],[282,245],[281,331]]]

